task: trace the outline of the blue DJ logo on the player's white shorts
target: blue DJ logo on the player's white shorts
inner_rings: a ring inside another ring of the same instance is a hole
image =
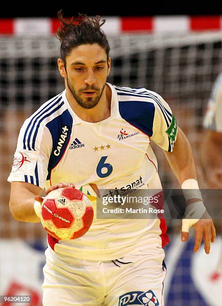
[[[158,306],[159,302],[152,290],[131,291],[119,296],[118,306],[126,305]]]

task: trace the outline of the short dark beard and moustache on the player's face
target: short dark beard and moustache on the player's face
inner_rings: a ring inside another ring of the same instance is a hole
[[[94,107],[98,103],[98,101],[99,101],[99,99],[100,99],[100,97],[102,95],[102,92],[103,92],[103,90],[105,88],[105,85],[106,85],[106,80],[105,80],[105,82],[104,82],[100,92],[99,92],[99,88],[96,88],[93,85],[92,86],[86,86],[85,88],[79,89],[78,92],[76,92],[74,87],[71,86],[71,84],[70,84],[70,82],[68,80],[68,77],[67,77],[67,86],[68,86],[69,90],[71,91],[71,93],[72,93],[74,99],[76,100],[76,102],[80,106],[82,106],[83,108],[88,108],[89,109],[89,108]],[[80,94],[83,91],[87,91],[87,90],[95,90],[96,91],[96,95],[92,96],[92,97],[85,97],[85,99],[81,98]]]

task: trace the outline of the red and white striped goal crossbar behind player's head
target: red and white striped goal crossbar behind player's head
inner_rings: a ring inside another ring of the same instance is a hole
[[[212,16],[135,16],[135,17],[105,17],[102,26],[106,34],[125,32],[189,32],[205,30],[222,30],[222,15]],[[0,19],[0,34],[35,34],[50,35],[56,32],[59,26],[57,18],[33,17]]]

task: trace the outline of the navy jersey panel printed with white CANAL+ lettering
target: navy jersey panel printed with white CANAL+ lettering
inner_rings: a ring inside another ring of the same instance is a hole
[[[71,134],[72,122],[72,116],[66,109],[62,112],[62,114],[46,124],[52,137],[52,151],[48,161],[47,180],[50,179],[51,170],[59,162],[67,147]],[[61,135],[63,135],[62,138]]]

